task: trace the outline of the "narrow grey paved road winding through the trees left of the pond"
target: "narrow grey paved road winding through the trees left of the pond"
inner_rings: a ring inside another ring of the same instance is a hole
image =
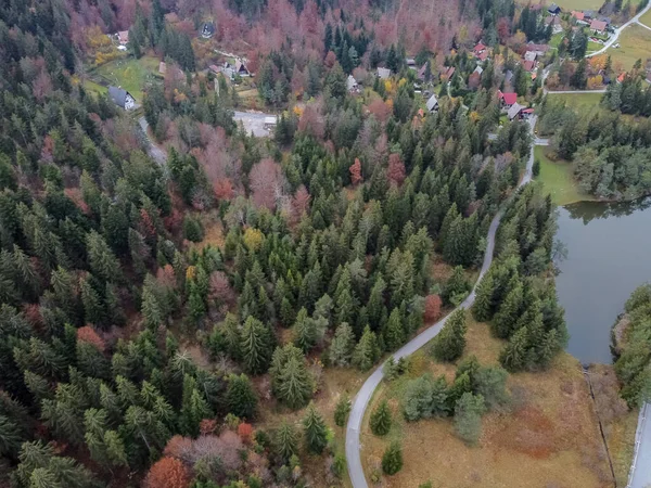
[[[536,125],[536,117],[532,117],[529,119],[531,130]],[[519,187],[523,187],[532,181],[532,168],[534,166],[534,149],[532,145],[532,151],[529,153],[529,158],[526,163],[526,170],[524,171],[524,177],[520,182]],[[474,303],[475,299],[475,290],[477,284],[490,268],[490,264],[493,262],[493,253],[495,251],[495,233],[497,232],[497,228],[499,227],[499,222],[502,217],[502,211],[498,211],[497,215],[493,218],[490,222],[490,227],[488,229],[488,236],[486,237],[486,254],[484,255],[484,262],[482,264],[482,270],[480,272],[480,277],[475,286],[473,287],[471,294],[463,300],[463,303],[459,306],[459,308],[468,309]],[[430,326],[416,337],[413,337],[409,343],[403,346],[398,351],[394,354],[394,358],[398,360],[399,358],[404,358],[416,352],[418,349],[423,347],[430,341],[432,341],[444,328],[449,314],[446,316],[443,320],[436,322],[434,325]],[[348,418],[348,425],[346,426],[346,461],[348,463],[348,474],[350,476],[350,481],[353,483],[353,488],[368,488],[366,476],[363,475],[363,468],[361,466],[361,455],[360,449],[361,444],[359,442],[359,432],[361,429],[361,423],[363,420],[363,412],[366,411],[371,397],[373,396],[373,391],[382,381],[382,368],[384,364],[380,364],[375,371],[368,377],[368,380],[361,385],[361,388],[357,393],[355,400],[353,402],[353,408],[350,410],[350,416]],[[425,460],[423,460],[425,461]]]

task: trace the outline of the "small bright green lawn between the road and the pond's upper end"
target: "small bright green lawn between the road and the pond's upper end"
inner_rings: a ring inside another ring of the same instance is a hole
[[[567,205],[574,202],[595,200],[593,196],[583,193],[578,190],[572,165],[565,162],[552,162],[547,157],[545,146],[536,146],[534,156],[540,159],[540,175],[537,180],[545,185],[545,191],[549,192],[551,200],[557,205]]]

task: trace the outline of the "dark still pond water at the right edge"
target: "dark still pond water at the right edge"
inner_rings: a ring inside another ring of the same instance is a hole
[[[630,293],[651,281],[651,198],[582,202],[560,208],[557,237],[567,257],[557,291],[582,362],[611,362],[610,330]]]

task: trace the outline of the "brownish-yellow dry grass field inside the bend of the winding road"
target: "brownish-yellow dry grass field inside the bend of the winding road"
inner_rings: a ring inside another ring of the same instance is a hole
[[[464,356],[475,355],[483,364],[495,364],[503,343],[492,337],[483,323],[470,322]],[[455,367],[432,361],[423,351],[412,359],[411,372],[375,394],[371,411],[387,398],[394,412],[385,438],[370,433],[365,420],[362,463],[373,483],[385,447],[393,439],[403,445],[404,467],[383,477],[385,487],[416,487],[431,480],[435,487],[575,487],[612,486],[612,476],[578,361],[561,354],[549,371],[509,376],[510,411],[483,419],[477,447],[469,448],[452,432],[449,419],[407,423],[399,412],[408,380],[423,372],[454,378]]]

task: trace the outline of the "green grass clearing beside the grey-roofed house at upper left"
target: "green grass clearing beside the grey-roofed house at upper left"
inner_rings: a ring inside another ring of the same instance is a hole
[[[158,73],[157,57],[142,56],[140,60],[129,57],[112,61],[95,69],[104,81],[127,90],[138,101],[142,101],[142,87],[148,78]],[[92,73],[91,73],[92,76]]]

